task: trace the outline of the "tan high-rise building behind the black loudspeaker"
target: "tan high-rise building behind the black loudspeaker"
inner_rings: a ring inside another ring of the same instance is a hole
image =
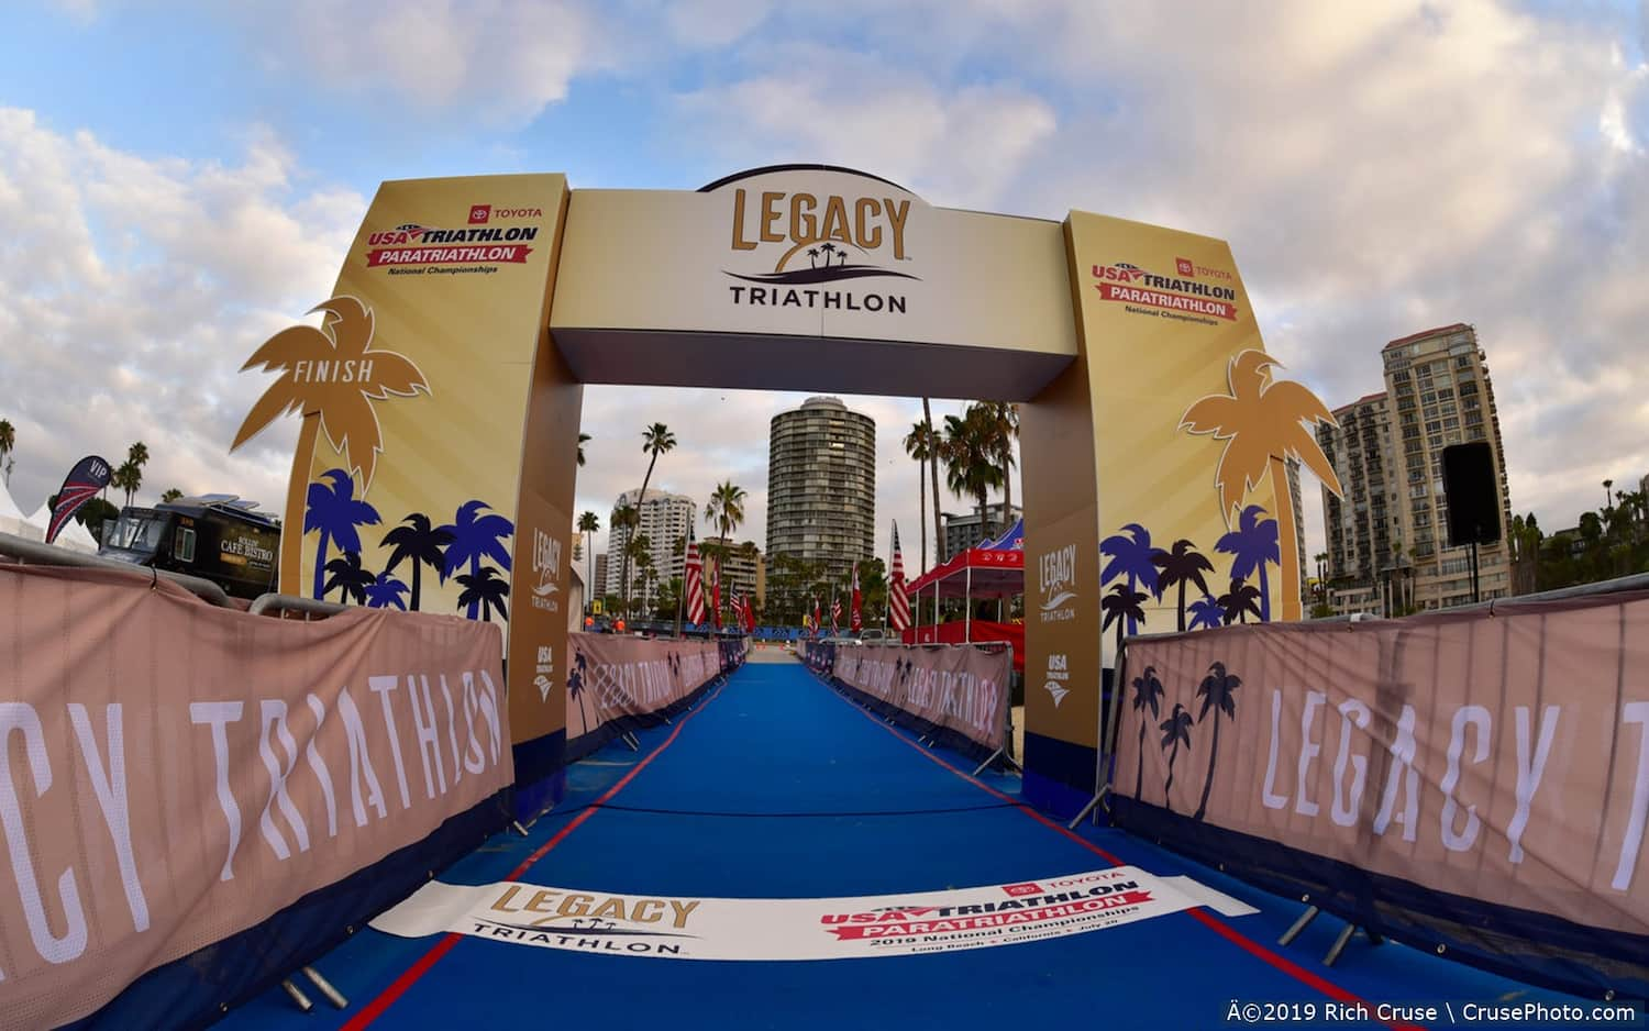
[[[1469,546],[1451,548],[1443,449],[1486,440],[1494,460],[1501,541],[1479,546],[1484,600],[1510,594],[1510,490],[1494,386],[1478,333],[1454,323],[1393,340],[1382,350],[1385,393],[1339,411],[1319,427],[1344,500],[1322,492],[1331,577],[1346,600],[1374,589],[1382,614],[1471,602]],[[1364,604],[1367,604],[1364,600]]]

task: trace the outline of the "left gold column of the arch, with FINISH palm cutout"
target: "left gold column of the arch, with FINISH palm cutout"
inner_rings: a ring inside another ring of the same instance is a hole
[[[566,699],[533,685],[539,666],[543,683],[561,675],[567,622],[579,389],[544,360],[566,201],[561,175],[379,186],[322,325],[277,333],[247,363],[280,379],[236,439],[303,414],[284,592],[458,614],[506,642],[528,614],[506,643],[523,741],[564,727]]]

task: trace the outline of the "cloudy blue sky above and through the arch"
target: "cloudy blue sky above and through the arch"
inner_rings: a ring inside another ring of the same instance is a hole
[[[279,506],[297,427],[229,455],[265,386],[237,370],[328,295],[381,180],[691,190],[823,162],[935,205],[1229,239],[1268,350],[1331,406],[1379,388],[1384,341],[1469,322],[1514,508],[1571,525],[1649,472],[1646,45],[1649,3],[1603,0],[12,0],[10,488],[33,510],[142,439],[143,500]],[[605,523],[660,419],[681,447],[656,482],[742,483],[762,541],[767,422],[801,398],[590,388],[579,508]],[[920,404],[849,403],[879,424],[886,549],[917,523]]]

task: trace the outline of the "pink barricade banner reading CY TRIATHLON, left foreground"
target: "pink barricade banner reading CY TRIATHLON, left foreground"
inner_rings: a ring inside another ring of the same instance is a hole
[[[86,1016],[506,789],[500,655],[486,622],[378,609],[280,620],[163,579],[0,567],[13,874],[0,891],[0,1023]],[[350,904],[322,934],[369,916]],[[214,991],[279,980],[264,953],[294,949],[265,942]],[[163,1019],[198,1023],[219,1001],[173,991]]]

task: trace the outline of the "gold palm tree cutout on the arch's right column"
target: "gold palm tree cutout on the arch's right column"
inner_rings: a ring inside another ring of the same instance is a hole
[[[1265,351],[1248,350],[1232,358],[1230,394],[1202,398],[1181,419],[1181,429],[1214,434],[1225,440],[1214,480],[1220,490],[1220,518],[1230,526],[1232,511],[1247,492],[1270,473],[1276,497],[1280,566],[1283,576],[1283,619],[1299,619],[1299,556],[1294,541],[1294,511],[1288,493],[1286,459],[1293,455],[1318,473],[1322,487],[1341,493],[1334,465],[1322,454],[1311,424],[1337,426],[1329,409],[1299,383],[1271,381],[1270,368],[1280,365]]]

